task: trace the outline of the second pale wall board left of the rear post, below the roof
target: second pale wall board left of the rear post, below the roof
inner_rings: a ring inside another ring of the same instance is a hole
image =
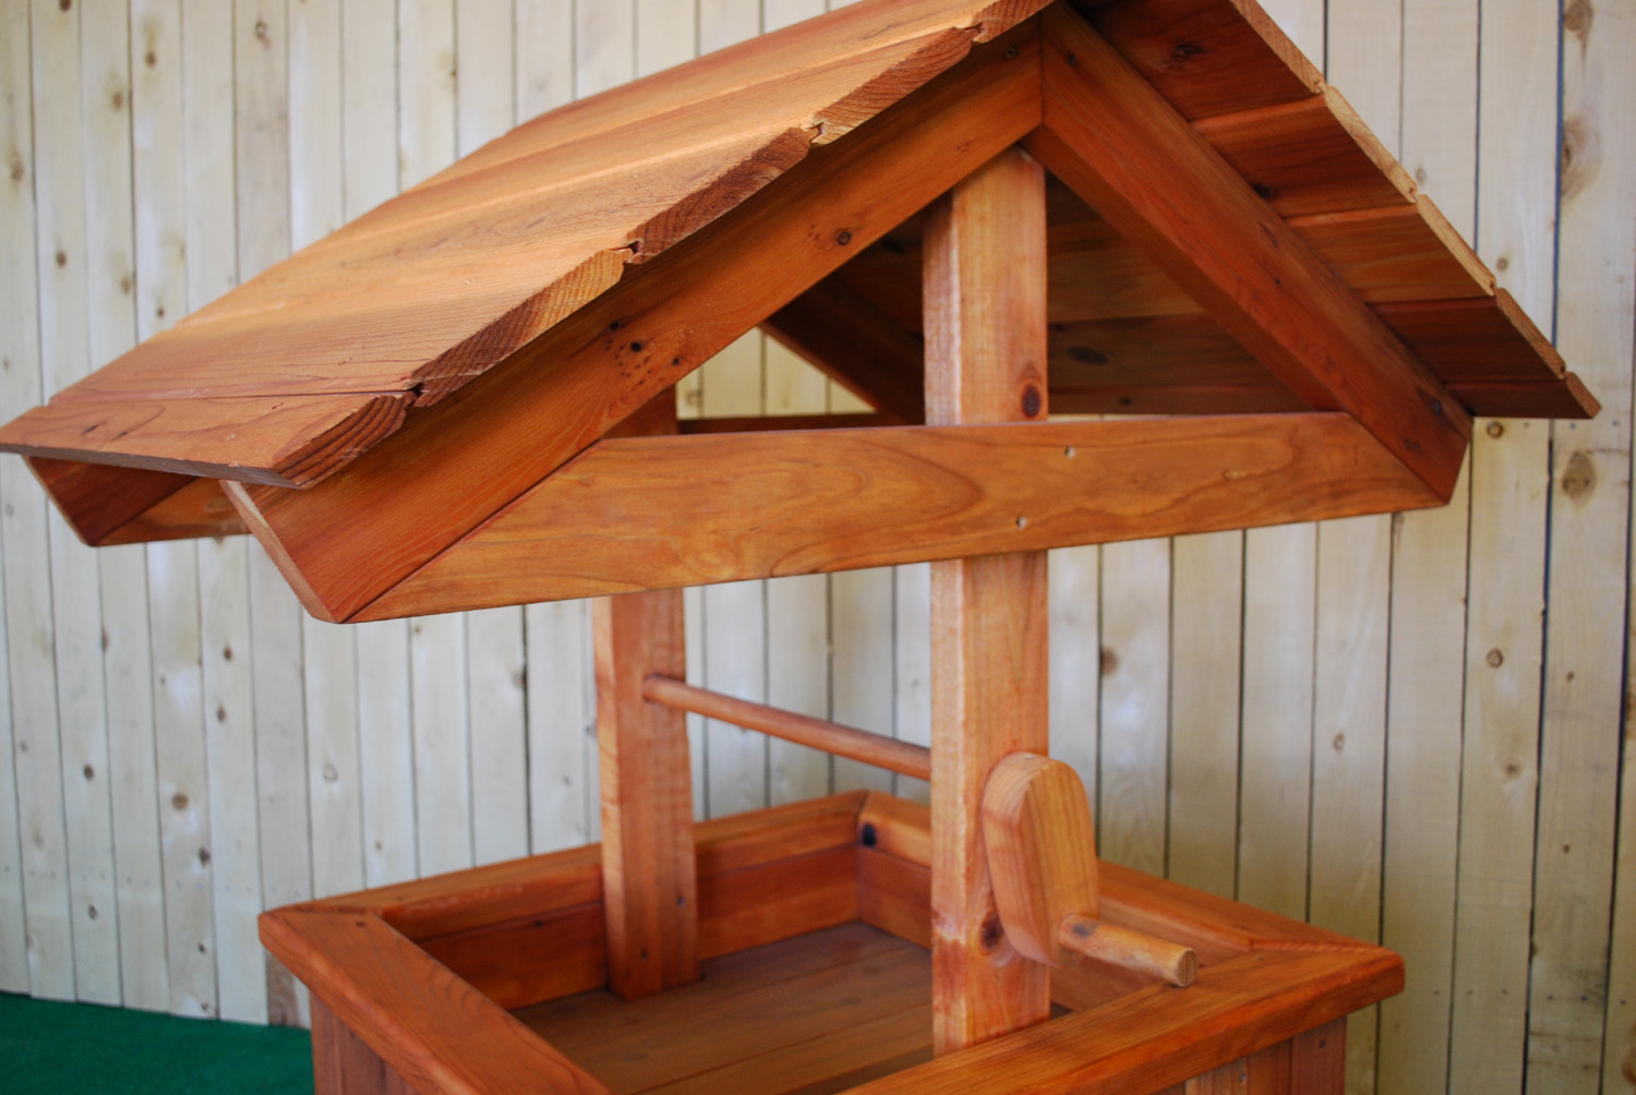
[[[525,666],[522,609],[484,609],[466,615],[471,851],[476,863],[528,854]]]

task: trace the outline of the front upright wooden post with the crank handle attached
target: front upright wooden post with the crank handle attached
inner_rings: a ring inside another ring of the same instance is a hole
[[[926,223],[926,422],[1045,417],[1045,175],[1021,149],[937,200]],[[1018,514],[1026,520],[1027,514]],[[1045,753],[1045,553],[933,563],[933,1046],[1050,1016],[1045,966],[1005,940],[982,836],[990,769]]]

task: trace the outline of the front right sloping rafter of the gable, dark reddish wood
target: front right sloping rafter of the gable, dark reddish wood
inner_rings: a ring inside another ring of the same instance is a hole
[[[1345,408],[1433,489],[1453,489],[1464,409],[1112,46],[1072,11],[1042,18],[1045,123],[1029,147],[1291,391]]]

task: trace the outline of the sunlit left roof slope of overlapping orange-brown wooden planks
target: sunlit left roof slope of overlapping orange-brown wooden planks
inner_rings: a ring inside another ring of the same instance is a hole
[[[82,444],[136,453],[146,447],[136,435],[185,430],[195,439],[188,452],[204,463],[262,466],[268,481],[322,478],[394,432],[401,419],[373,411],[381,393],[401,393],[399,404],[442,399],[615,285],[625,264],[648,262],[733,210],[813,144],[857,126],[1034,7],[865,3],[525,126],[80,386],[67,401],[93,404],[80,414],[108,427]],[[777,79],[792,69],[800,80]],[[874,87],[882,79],[892,90]],[[679,123],[677,110],[689,121]],[[630,147],[645,149],[646,167],[609,187],[609,157]],[[474,234],[478,203],[491,228]],[[551,216],[538,216],[542,208]],[[473,288],[447,293],[448,278]],[[393,303],[383,308],[388,286]],[[267,398],[283,396],[296,419],[249,424],[244,396],[260,398],[260,412]],[[108,421],[119,408],[134,417]],[[347,419],[380,426],[337,447],[326,434]],[[33,444],[28,435],[33,426],[11,439]],[[257,435],[272,448],[255,453]],[[160,445],[159,455],[172,453]]]

